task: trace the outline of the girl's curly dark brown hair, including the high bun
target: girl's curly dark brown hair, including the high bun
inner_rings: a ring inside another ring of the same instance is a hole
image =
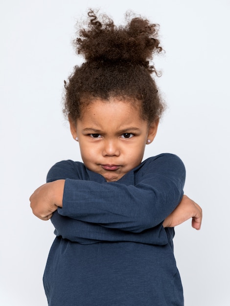
[[[101,21],[88,12],[88,28],[81,28],[74,41],[76,53],[85,58],[65,81],[63,112],[72,120],[92,100],[118,98],[140,106],[142,119],[160,118],[164,109],[158,87],[151,77],[157,71],[149,65],[162,51],[157,39],[158,24],[135,17],[125,26],[115,26],[106,15]]]

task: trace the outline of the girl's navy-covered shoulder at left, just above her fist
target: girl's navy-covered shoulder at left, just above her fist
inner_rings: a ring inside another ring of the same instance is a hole
[[[62,160],[54,164],[49,170],[46,182],[51,182],[57,179],[84,179],[87,175],[86,168],[83,163],[72,160]]]

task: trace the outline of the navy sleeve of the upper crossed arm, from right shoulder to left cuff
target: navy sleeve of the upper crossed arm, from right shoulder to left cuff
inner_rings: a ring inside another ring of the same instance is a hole
[[[67,178],[58,214],[101,227],[140,233],[162,224],[183,196],[185,169],[174,154],[146,160],[134,182]]]

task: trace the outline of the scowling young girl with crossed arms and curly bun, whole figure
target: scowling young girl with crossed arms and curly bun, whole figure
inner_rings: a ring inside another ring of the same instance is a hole
[[[83,163],[56,163],[30,197],[33,213],[55,227],[48,305],[182,306],[173,226],[192,218],[199,229],[202,212],[183,196],[178,156],[142,162],[163,111],[148,62],[161,51],[157,26],[88,15],[75,41],[86,62],[65,82],[64,105]]]

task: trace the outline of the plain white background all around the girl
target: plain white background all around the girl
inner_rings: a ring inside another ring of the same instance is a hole
[[[63,82],[81,63],[76,20],[101,8],[116,24],[131,9],[161,25],[155,59],[167,102],[146,157],[178,154],[184,192],[204,212],[201,231],[176,228],[185,306],[227,306],[229,254],[229,0],[8,0],[0,3],[0,305],[46,306],[42,276],[54,239],[29,196],[57,161],[80,160],[62,115]]]

